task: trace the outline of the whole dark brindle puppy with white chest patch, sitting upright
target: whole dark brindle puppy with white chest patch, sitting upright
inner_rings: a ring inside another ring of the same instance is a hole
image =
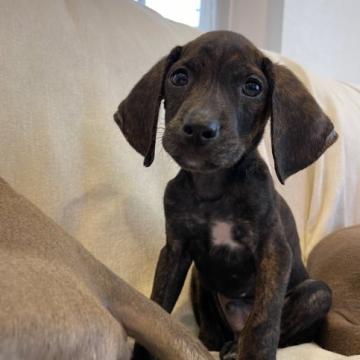
[[[163,146],[182,169],[165,192],[151,298],[171,312],[194,261],[199,337],[223,359],[275,359],[278,345],[314,339],[331,292],[309,278],[292,213],[256,148],[271,115],[284,183],[334,143],[332,123],[294,74],[226,31],[173,49],[120,104],[115,120],[146,166],[162,99]]]

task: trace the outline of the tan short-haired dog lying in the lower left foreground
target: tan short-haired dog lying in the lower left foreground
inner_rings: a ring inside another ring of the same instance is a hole
[[[0,289],[0,360],[127,360],[127,333],[160,359],[212,359],[1,178]]]

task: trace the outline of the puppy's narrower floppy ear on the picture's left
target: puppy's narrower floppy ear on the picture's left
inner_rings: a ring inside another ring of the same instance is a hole
[[[144,156],[144,166],[154,160],[156,130],[161,100],[164,97],[164,80],[170,66],[181,55],[177,46],[155,64],[121,102],[114,119],[130,145]]]

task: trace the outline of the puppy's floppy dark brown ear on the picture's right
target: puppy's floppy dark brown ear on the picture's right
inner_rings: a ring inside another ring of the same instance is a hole
[[[286,67],[264,61],[270,85],[271,141],[278,179],[312,164],[337,139],[334,126],[302,82]]]

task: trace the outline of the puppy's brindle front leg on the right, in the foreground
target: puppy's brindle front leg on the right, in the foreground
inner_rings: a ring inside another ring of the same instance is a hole
[[[275,225],[261,244],[254,306],[239,338],[239,360],[275,360],[291,261],[290,247]]]

